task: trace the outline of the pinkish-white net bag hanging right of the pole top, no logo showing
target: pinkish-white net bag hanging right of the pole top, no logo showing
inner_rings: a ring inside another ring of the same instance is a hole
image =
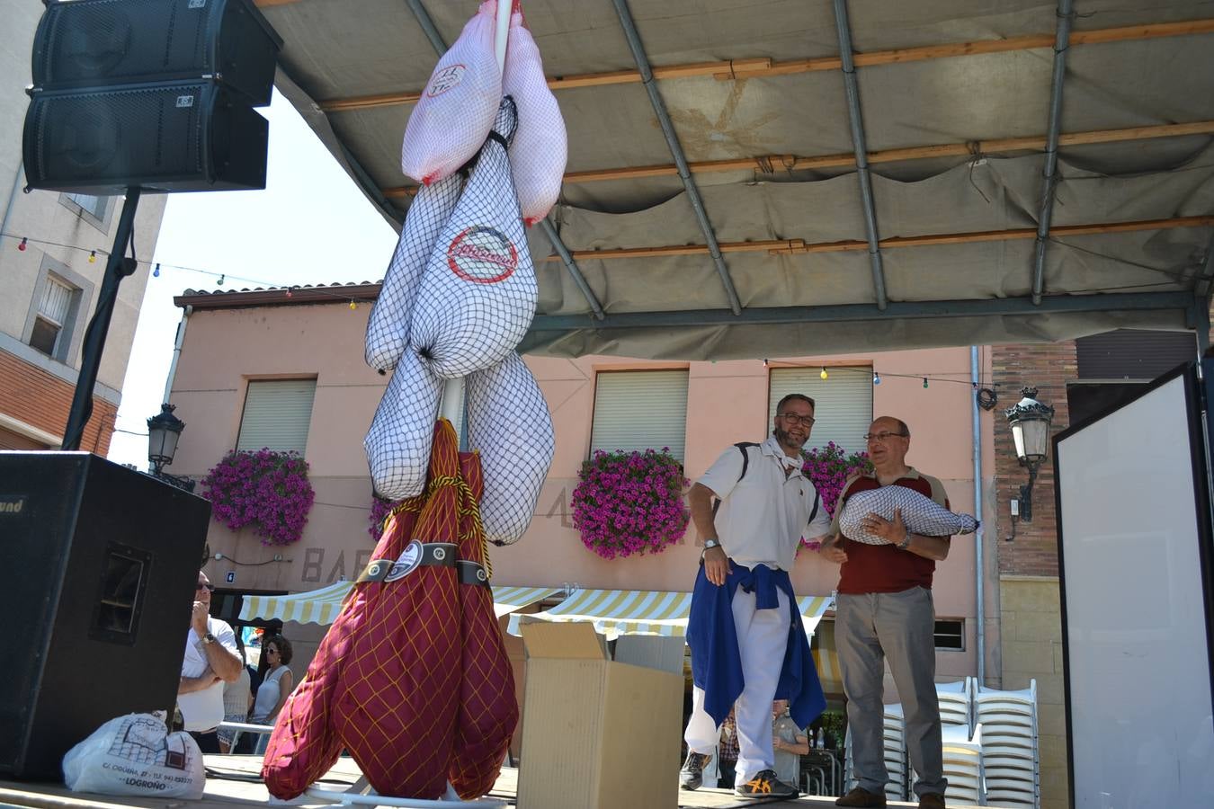
[[[521,11],[510,16],[507,42],[501,89],[518,104],[518,131],[510,147],[510,169],[523,222],[532,226],[548,216],[561,195],[568,146],[561,107],[548,89],[539,47]]]

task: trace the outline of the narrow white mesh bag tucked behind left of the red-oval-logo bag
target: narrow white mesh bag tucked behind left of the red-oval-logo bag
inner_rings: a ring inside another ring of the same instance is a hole
[[[384,275],[379,300],[367,321],[365,357],[371,368],[386,371],[401,361],[409,342],[409,317],[421,273],[435,250],[438,234],[455,210],[463,187],[464,178],[454,173],[424,186],[413,199]]]

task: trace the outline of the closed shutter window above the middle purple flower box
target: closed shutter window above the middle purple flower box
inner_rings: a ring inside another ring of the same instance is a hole
[[[660,450],[683,457],[687,371],[600,371],[590,451]]]

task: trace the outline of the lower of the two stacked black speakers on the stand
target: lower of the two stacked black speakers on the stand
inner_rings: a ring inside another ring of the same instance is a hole
[[[25,177],[85,194],[266,187],[270,124],[212,81],[40,92],[25,114]]]

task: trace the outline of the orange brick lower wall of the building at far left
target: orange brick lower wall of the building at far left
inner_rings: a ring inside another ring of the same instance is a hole
[[[0,351],[0,412],[30,427],[62,435],[74,393],[75,386]],[[92,417],[85,426],[80,449],[104,456],[109,451],[117,416],[115,405],[93,397]]]

